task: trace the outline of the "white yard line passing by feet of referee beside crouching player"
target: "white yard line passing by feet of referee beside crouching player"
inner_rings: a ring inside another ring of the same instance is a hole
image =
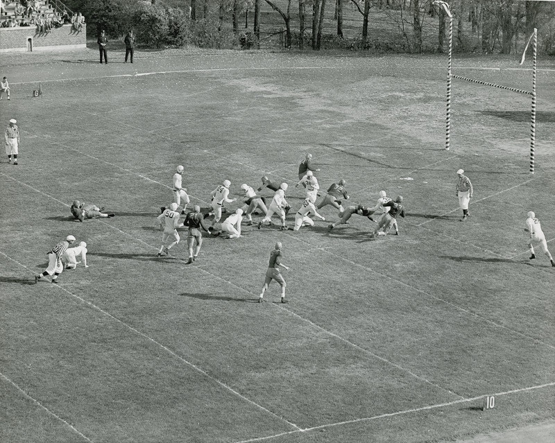
[[[108,223],[105,223],[106,225],[108,225]],[[110,225],[108,225],[110,226]],[[119,229],[118,229],[119,230]],[[138,238],[137,238],[138,240]],[[142,242],[144,243],[144,242]],[[147,244],[147,243],[145,243]],[[151,246],[151,245],[149,245]],[[154,246],[151,246],[154,247]],[[31,269],[29,269],[27,266],[25,266],[22,263],[19,263],[19,261],[12,259],[12,257],[9,257],[7,254],[5,254],[4,252],[0,251],[0,254],[3,255],[4,257],[6,257],[6,259],[13,261],[14,263],[17,263],[19,266],[21,266],[22,268],[25,268],[26,270],[28,270],[29,272],[32,272],[33,275],[35,274],[35,272],[33,272]],[[245,397],[242,394],[239,394],[239,392],[237,392],[236,390],[234,390],[233,388],[231,388],[230,386],[226,385],[225,383],[223,383],[223,381],[220,381],[219,379],[216,379],[216,377],[208,374],[205,370],[200,369],[200,367],[194,365],[194,363],[191,363],[187,360],[185,360],[185,358],[183,358],[182,356],[176,354],[176,352],[172,351],[171,349],[169,349],[169,347],[162,345],[162,343],[157,342],[154,338],[152,338],[151,336],[146,335],[146,333],[143,333],[141,331],[139,331],[138,329],[135,329],[133,326],[131,326],[130,324],[124,322],[123,320],[120,320],[117,317],[114,317],[114,315],[110,314],[108,311],[104,311],[102,308],[100,308],[99,306],[96,306],[96,304],[87,301],[86,299],[84,299],[83,297],[79,297],[78,295],[72,293],[70,290],[67,290],[64,286],[61,285],[52,285],[52,286],[56,286],[56,289],[61,289],[63,290],[65,293],[67,293],[68,295],[70,295],[71,297],[74,297],[78,300],[80,300],[80,302],[83,302],[87,305],[89,305],[92,309],[99,311],[101,313],[103,313],[104,315],[107,315],[108,317],[112,318],[112,320],[115,320],[116,322],[118,322],[119,324],[122,324],[124,327],[130,329],[130,331],[133,331],[137,334],[139,334],[139,336],[142,336],[143,338],[146,338],[146,340],[149,340],[151,342],[153,342],[155,345],[161,347],[162,349],[164,349],[164,351],[167,351],[169,354],[171,354],[172,356],[176,357],[179,361],[182,361],[182,363],[185,363],[186,365],[188,365],[189,367],[192,367],[194,370],[196,370],[197,372],[200,372],[200,374],[203,374],[204,376],[206,376],[208,379],[214,381],[215,383],[217,383],[218,385],[220,385],[222,388],[224,388],[225,390],[228,390],[229,392],[231,392],[232,394],[234,394],[235,396],[239,397],[240,399],[243,399],[244,401],[247,401],[248,403],[252,404],[253,406],[256,406],[257,408],[259,408],[260,410],[263,410],[264,412],[268,412],[268,414],[272,415],[273,417],[276,417],[278,419],[280,419],[282,422],[285,422],[287,424],[289,424],[290,426],[293,426],[293,428],[296,429],[300,429],[296,424],[293,424],[291,422],[289,422],[287,419],[284,419],[283,417],[280,417],[279,415],[275,414],[274,412],[272,412],[271,410],[268,410],[266,408],[264,408],[264,406],[259,405],[258,403],[256,403],[255,401],[248,399],[247,397]],[[9,379],[7,377],[5,377],[8,381]],[[13,383],[15,385],[15,383]],[[17,385],[15,385],[17,387]],[[22,390],[22,392],[24,392]],[[29,397],[31,398],[31,397]],[[37,402],[38,403],[38,402]],[[40,403],[38,403],[40,404]],[[46,409],[46,408],[45,408]],[[56,416],[56,415],[55,415]],[[57,417],[57,416],[56,416]],[[63,421],[63,420],[62,420]],[[82,435],[82,434],[81,434]],[[83,437],[85,437],[83,435]],[[86,437],[85,437],[86,438]],[[89,440],[89,439],[87,439]],[[89,440],[91,441],[91,440]]]

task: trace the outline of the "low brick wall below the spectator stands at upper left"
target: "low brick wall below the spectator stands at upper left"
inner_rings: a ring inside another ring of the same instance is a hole
[[[0,53],[30,51],[29,38],[33,51],[86,48],[87,26],[83,25],[83,31],[76,33],[71,25],[67,24],[44,34],[38,34],[36,26],[0,28]]]

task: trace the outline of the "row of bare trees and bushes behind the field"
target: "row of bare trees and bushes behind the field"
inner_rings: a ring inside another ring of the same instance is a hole
[[[153,46],[196,44],[259,47],[261,27],[283,28],[284,46],[319,50],[372,49],[375,42],[397,51],[445,51],[449,19],[433,0],[66,0],[92,28]],[[555,2],[451,0],[455,51],[511,53],[538,28],[540,51],[555,52]],[[265,13],[262,15],[262,10]],[[271,18],[268,12],[275,14]],[[262,18],[268,21],[263,23]],[[277,17],[277,19],[276,19]],[[345,32],[345,17],[350,26]],[[391,32],[384,33],[387,22]],[[348,35],[350,34],[350,35]],[[434,37],[435,36],[435,37]],[[331,43],[330,43],[331,42]]]

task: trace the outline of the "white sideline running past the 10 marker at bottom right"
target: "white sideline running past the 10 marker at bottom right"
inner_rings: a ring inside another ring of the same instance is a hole
[[[555,382],[550,382],[550,383],[545,383],[543,385],[529,386],[527,388],[513,389],[513,390],[505,391],[505,392],[497,392],[495,394],[490,394],[490,395],[493,396],[493,397],[502,397],[504,395],[518,394],[519,392],[527,392],[527,391],[536,390],[536,389],[550,388],[554,385],[555,385]],[[412,412],[421,412],[423,410],[432,410],[432,409],[438,409],[438,408],[445,408],[445,407],[448,407],[448,406],[454,406],[456,404],[468,403],[470,401],[481,400],[481,399],[484,399],[485,397],[486,397],[486,395],[479,395],[477,397],[471,397],[471,398],[468,398],[468,399],[459,399],[459,400],[454,400],[454,401],[448,401],[447,403],[438,403],[438,404],[429,405],[429,406],[421,406],[420,408],[399,410],[397,412],[388,412],[386,414],[374,415],[373,417],[363,417],[363,418],[359,418],[359,419],[345,420],[344,422],[322,424],[322,425],[319,425],[319,426],[313,426],[311,428],[300,429],[299,431],[289,431],[287,433],[267,435],[266,437],[255,437],[255,438],[252,438],[250,440],[241,440],[240,442],[237,442],[237,443],[260,442],[262,440],[268,440],[268,439],[271,439],[271,438],[280,437],[282,435],[289,435],[289,434],[295,434],[295,433],[305,433],[305,432],[315,431],[316,429],[331,428],[332,426],[342,426],[342,425],[345,425],[345,424],[353,424],[353,423],[359,423],[359,422],[370,422],[371,420],[377,420],[377,419],[382,419],[382,418],[386,418],[386,417],[396,417],[398,415],[410,414]]]

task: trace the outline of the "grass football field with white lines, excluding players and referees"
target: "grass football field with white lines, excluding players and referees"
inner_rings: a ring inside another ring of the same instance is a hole
[[[0,55],[0,122],[21,132],[19,164],[0,162],[0,441],[416,443],[555,422],[555,268],[523,230],[535,211],[555,253],[555,60],[538,64],[530,174],[527,96],[454,81],[444,149],[444,55],[97,55]],[[453,64],[518,89],[530,68]],[[189,207],[223,180],[228,211],[243,183],[287,182],[292,227],[306,153],[348,205],[403,196],[400,236],[357,215],[330,231],[327,206],[299,232],[255,216],[241,238],[205,235],[189,266],[181,229],[156,257],[177,165]],[[76,199],[116,216],[78,223]],[[69,234],[89,268],[35,284]],[[289,303],[274,282],[259,304],[276,241]]]

